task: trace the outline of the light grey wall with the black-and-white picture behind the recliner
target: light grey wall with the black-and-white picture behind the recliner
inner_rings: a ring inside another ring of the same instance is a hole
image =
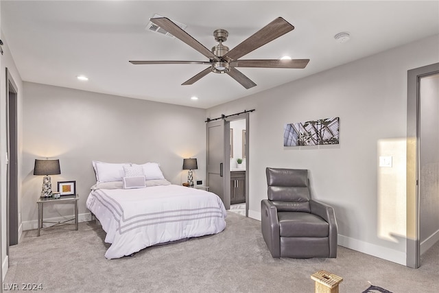
[[[313,197],[335,207],[340,245],[405,264],[407,70],[438,62],[438,44],[433,36],[209,108],[207,117],[256,109],[250,217],[266,198],[265,167],[309,169]],[[283,147],[284,124],[327,117],[340,117],[340,145]]]

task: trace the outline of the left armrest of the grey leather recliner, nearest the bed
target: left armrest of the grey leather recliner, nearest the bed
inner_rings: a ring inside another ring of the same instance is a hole
[[[261,228],[272,257],[281,257],[281,237],[277,208],[270,200],[261,200]]]

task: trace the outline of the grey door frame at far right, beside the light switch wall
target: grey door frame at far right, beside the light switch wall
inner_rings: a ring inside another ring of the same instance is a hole
[[[406,266],[419,268],[419,127],[420,78],[439,73],[439,63],[407,71],[407,254]]]

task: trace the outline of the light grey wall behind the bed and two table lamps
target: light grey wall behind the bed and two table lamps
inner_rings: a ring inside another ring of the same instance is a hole
[[[183,158],[197,158],[204,180],[204,110],[24,82],[23,228],[36,228],[41,176],[34,159],[57,157],[56,182],[76,180],[79,213],[86,220],[86,198],[95,184],[93,160],[112,163],[157,162],[165,178],[180,185],[187,178]],[[71,215],[71,205],[47,205],[45,217]]]

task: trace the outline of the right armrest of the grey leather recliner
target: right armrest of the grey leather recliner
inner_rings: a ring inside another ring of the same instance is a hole
[[[337,257],[337,237],[338,228],[337,220],[335,220],[335,213],[333,207],[323,202],[316,200],[309,200],[311,213],[323,218],[329,224],[329,257]]]

